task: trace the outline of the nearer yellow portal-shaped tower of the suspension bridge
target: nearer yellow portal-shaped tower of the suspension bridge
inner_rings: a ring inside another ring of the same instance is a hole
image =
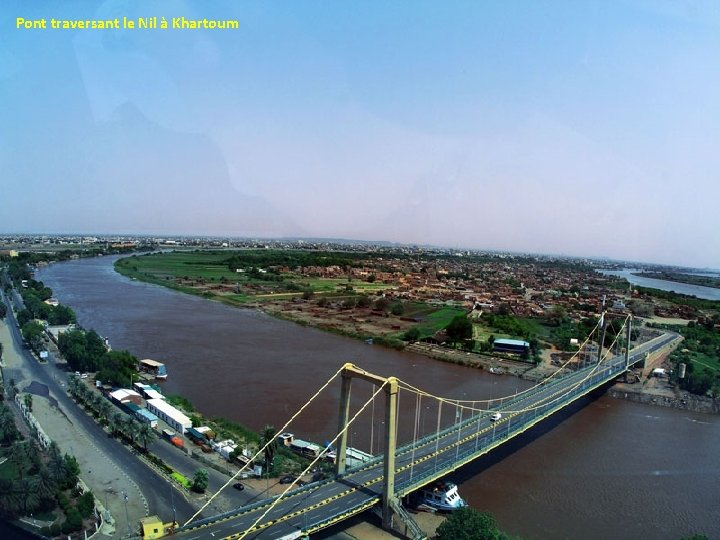
[[[395,447],[397,445],[395,420],[397,418],[398,382],[395,377],[379,377],[363,369],[347,363],[342,369],[342,386],[340,390],[340,420],[338,422],[338,450],[335,473],[341,476],[345,473],[347,458],[347,425],[350,419],[350,390],[353,378],[366,380],[373,385],[385,389],[385,455],[383,462],[383,495],[382,520],[383,527],[392,527],[393,509],[391,502],[395,497]]]

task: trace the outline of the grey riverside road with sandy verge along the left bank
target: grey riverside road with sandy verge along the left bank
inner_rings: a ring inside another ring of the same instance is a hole
[[[16,306],[22,309],[22,298],[13,289]],[[2,293],[0,293],[2,294]],[[8,298],[9,300],[9,298]],[[204,500],[219,490],[229,478],[212,468],[208,470],[207,495],[188,496],[178,489],[172,489],[162,476],[123,444],[108,437],[96,422],[82,411],[66,394],[67,373],[58,369],[51,355],[49,362],[40,363],[22,345],[22,336],[17,327],[9,302],[7,324],[0,327],[0,340],[5,346],[5,377],[15,379],[23,391],[31,387],[37,392],[33,400],[34,415],[51,439],[63,452],[75,455],[81,463],[81,478],[90,486],[102,505],[107,505],[113,519],[117,520],[117,534],[126,534],[129,518],[132,531],[137,529],[140,517],[149,513],[160,515],[171,521],[175,515],[180,523],[194,515]],[[43,399],[43,396],[45,397]],[[198,461],[179,451],[163,440],[157,440],[149,450],[186,477],[192,478],[202,467]],[[127,513],[123,494],[128,494]],[[260,494],[251,489],[223,491],[206,510],[208,515],[238,508],[254,502]],[[174,512],[173,512],[174,508]]]

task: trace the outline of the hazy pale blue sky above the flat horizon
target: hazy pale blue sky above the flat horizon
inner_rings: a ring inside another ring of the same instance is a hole
[[[0,232],[720,268],[720,3],[3,0]],[[237,19],[18,30],[16,18]]]

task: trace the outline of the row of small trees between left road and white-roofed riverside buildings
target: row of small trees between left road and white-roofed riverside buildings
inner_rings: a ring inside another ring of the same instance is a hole
[[[147,452],[148,445],[157,438],[150,424],[120,412],[107,398],[89,388],[79,377],[69,378],[68,392],[85,405],[102,425],[107,426],[114,437],[123,437],[143,452]]]

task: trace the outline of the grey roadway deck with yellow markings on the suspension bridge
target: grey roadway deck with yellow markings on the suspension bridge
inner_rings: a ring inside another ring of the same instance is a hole
[[[666,346],[676,337],[666,334],[637,347],[633,350],[631,362],[642,358],[645,352]],[[600,369],[588,366],[504,402],[494,409],[502,414],[497,422],[492,422],[487,413],[478,414],[439,435],[426,437],[415,445],[398,449],[396,494],[403,496],[410,493],[489,452],[556,410],[614,379],[624,370],[623,358],[615,358],[605,364]],[[560,399],[568,388],[574,388],[570,399]],[[377,504],[382,493],[381,479],[382,461],[378,460],[344,478],[295,490],[267,516],[262,517],[257,527],[254,527],[255,521],[270,507],[273,499],[240,509],[236,514],[222,516],[207,524],[199,523],[199,527],[182,531],[177,536],[191,539],[211,535],[216,538],[237,537],[252,529],[246,538],[276,539],[300,530],[312,531]]]

